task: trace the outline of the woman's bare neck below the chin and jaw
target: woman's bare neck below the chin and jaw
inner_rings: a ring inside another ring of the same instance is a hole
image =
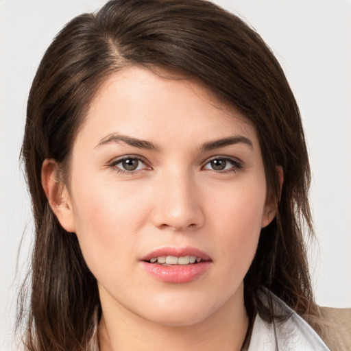
[[[241,297],[228,300],[206,319],[187,326],[158,324],[121,306],[112,312],[113,308],[104,308],[101,300],[100,350],[239,351],[249,323],[243,293]]]

